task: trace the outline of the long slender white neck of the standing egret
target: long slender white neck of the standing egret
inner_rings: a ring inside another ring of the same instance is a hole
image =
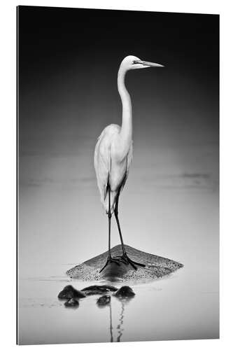
[[[123,144],[127,147],[132,140],[132,104],[129,92],[127,92],[125,87],[125,73],[125,69],[120,67],[118,71],[118,92],[122,102],[122,127],[120,137]]]

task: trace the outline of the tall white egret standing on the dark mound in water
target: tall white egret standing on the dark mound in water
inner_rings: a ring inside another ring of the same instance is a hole
[[[122,125],[108,125],[98,138],[94,150],[94,169],[97,175],[97,184],[99,187],[101,202],[104,205],[106,214],[108,214],[108,262],[120,262],[130,264],[134,269],[135,265],[145,267],[140,262],[131,260],[125,250],[118,219],[118,201],[122,188],[129,174],[129,166],[132,162],[132,103],[129,92],[125,87],[125,74],[131,69],[157,67],[161,64],[146,62],[135,56],[125,57],[118,71],[118,92],[122,102]],[[122,256],[111,256],[111,216],[115,214],[115,220],[118,225],[120,241],[122,245]],[[100,270],[100,272],[104,269]]]

